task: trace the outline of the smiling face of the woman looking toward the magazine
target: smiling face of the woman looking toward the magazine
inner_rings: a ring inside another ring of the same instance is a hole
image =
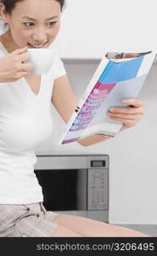
[[[59,32],[60,12],[55,0],[24,0],[16,3],[11,15],[3,15],[3,20],[19,48],[47,48]]]

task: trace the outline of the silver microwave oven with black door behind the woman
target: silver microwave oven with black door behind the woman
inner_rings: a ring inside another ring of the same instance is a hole
[[[109,222],[109,155],[36,155],[48,211]]]

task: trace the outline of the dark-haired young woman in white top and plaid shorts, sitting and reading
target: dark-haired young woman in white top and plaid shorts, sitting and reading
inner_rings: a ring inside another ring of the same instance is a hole
[[[64,122],[77,99],[64,65],[55,55],[48,75],[31,75],[27,48],[48,48],[59,32],[64,0],[2,0],[6,25],[0,38],[0,236],[146,236],[93,219],[48,212],[33,166],[36,147],[53,128],[51,103]],[[27,47],[27,48],[26,48]],[[134,108],[115,108],[109,117],[123,129],[136,125],[143,102],[130,99]],[[88,146],[106,140],[95,135],[78,143]]]

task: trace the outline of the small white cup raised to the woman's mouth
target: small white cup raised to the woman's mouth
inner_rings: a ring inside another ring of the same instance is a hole
[[[33,65],[30,74],[48,74],[49,68],[53,63],[54,52],[53,49],[27,49],[30,57],[27,60]]]

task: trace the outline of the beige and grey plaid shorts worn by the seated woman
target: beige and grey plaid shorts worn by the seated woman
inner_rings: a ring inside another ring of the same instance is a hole
[[[42,202],[12,205],[0,204],[0,237],[48,237],[58,227],[53,218],[61,213],[50,212]]]

